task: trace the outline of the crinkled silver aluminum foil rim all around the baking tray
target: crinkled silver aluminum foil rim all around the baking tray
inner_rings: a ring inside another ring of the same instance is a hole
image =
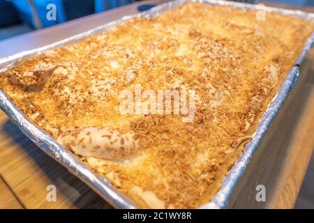
[[[95,29],[91,29],[84,33],[80,33],[76,36],[72,36],[70,38],[66,38],[61,40],[57,43],[53,43],[51,45],[46,45],[44,47],[39,47],[37,49],[31,49],[25,52],[21,52],[19,54],[15,54],[13,56],[8,56],[6,58],[0,59],[0,72],[5,71],[10,66],[14,66],[17,61],[21,59],[27,58],[29,56],[40,54],[48,49],[52,49],[54,47],[59,47],[62,45],[66,45],[68,43],[75,43],[76,40],[80,40],[87,36],[91,36],[96,33],[100,33],[110,29],[112,26],[116,26],[121,22],[129,20],[132,17],[156,17],[161,13],[172,10],[177,6],[181,5],[182,3],[193,1],[193,0],[178,0],[178,1],[171,1],[168,3],[164,3],[162,5],[156,6],[155,8],[151,8],[151,10],[145,11],[144,13],[140,13],[137,15],[129,15],[126,17],[122,17],[121,20],[117,20],[114,22],[110,22],[104,24],[103,26],[98,26]],[[202,2],[211,5],[223,5],[223,6],[230,6],[233,8],[239,8],[242,10],[249,10],[249,9],[257,9],[257,10],[264,10],[266,12],[276,12],[281,13],[283,15],[292,15],[296,17],[301,17],[304,20],[310,20],[314,22],[314,14],[312,13],[304,13],[299,10],[285,10],[281,8],[271,8],[265,6],[258,6],[258,5],[251,5],[246,3],[237,3],[233,1],[220,1],[220,0],[204,0],[204,1],[197,1],[194,0],[193,2]],[[262,8],[261,8],[262,7]],[[209,21],[210,22],[210,21]],[[297,35],[297,33],[296,33]],[[251,160],[257,145],[259,144],[260,140],[262,139],[263,134],[266,132],[269,124],[273,120],[274,116],[277,114],[278,110],[280,109],[281,105],[285,101],[288,92],[294,86],[294,83],[299,76],[299,65],[301,61],[306,56],[307,52],[311,47],[313,47],[314,43],[314,33],[304,46],[304,50],[297,59],[295,66],[292,67],[290,72],[287,74],[281,88],[279,89],[278,93],[275,95],[273,100],[269,103],[269,107],[267,108],[266,112],[264,112],[262,118],[260,118],[260,123],[257,126],[257,130],[255,134],[253,134],[253,138],[251,141],[246,144],[244,148],[244,152],[242,153],[239,160],[234,164],[232,169],[229,171],[227,176],[222,181],[222,186],[220,190],[216,193],[215,197],[207,204],[200,206],[200,208],[227,208],[228,199],[234,190],[234,186],[237,184],[237,181],[243,174],[248,162]],[[0,107],[9,117],[10,120],[17,125],[22,132],[33,141],[39,148],[41,148],[45,153],[50,155],[57,160],[60,164],[70,171],[70,173],[74,174],[78,178],[80,178],[84,183],[87,183],[89,187],[91,187],[95,192],[97,192],[101,197],[103,197],[106,201],[108,201],[112,206],[115,208],[137,208],[135,203],[130,201],[124,194],[118,192],[109,181],[105,178],[98,176],[95,174],[89,167],[85,164],[80,162],[73,153],[67,151],[63,146],[57,143],[49,134],[45,131],[38,128],[36,125],[31,123],[22,112],[20,112],[15,105],[8,99],[8,97],[0,91]]]

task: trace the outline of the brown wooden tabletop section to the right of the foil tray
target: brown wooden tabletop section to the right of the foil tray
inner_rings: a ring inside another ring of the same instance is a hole
[[[230,199],[230,208],[293,208],[314,148],[314,50]],[[257,202],[257,185],[266,202]]]

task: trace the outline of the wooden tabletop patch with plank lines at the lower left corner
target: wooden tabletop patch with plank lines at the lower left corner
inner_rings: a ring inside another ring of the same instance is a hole
[[[98,208],[110,208],[81,180],[40,151],[3,112],[0,117],[0,174],[26,208],[87,208],[94,203]],[[46,199],[48,185],[57,187],[55,202]]]

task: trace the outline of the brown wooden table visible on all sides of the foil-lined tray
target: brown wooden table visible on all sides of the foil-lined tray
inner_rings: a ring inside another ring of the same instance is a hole
[[[137,13],[138,4],[3,40],[0,42],[0,58]],[[296,86],[237,184],[230,208],[293,208],[314,148],[313,59],[312,50],[301,65]],[[57,201],[47,201],[48,185],[57,187]],[[265,185],[266,202],[256,201],[257,185]],[[0,112],[0,208],[112,207],[43,153]]]

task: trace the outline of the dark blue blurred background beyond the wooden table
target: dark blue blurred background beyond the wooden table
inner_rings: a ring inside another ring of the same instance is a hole
[[[140,0],[0,0],[0,40],[27,33],[34,29],[54,26],[78,17],[100,13],[135,1]],[[255,0],[236,1],[253,2]],[[271,1],[297,6],[314,6],[313,0]],[[54,3],[56,6],[56,20],[49,21],[46,19],[49,3]],[[33,7],[31,7],[32,4]]]

